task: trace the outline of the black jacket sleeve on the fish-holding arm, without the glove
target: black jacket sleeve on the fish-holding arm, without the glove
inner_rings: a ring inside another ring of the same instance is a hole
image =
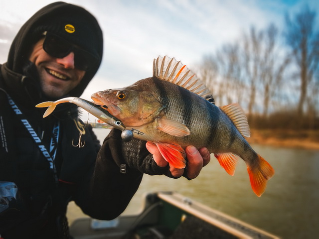
[[[111,131],[98,152],[93,172],[88,172],[90,180],[77,186],[74,201],[85,214],[111,220],[126,209],[139,188],[143,174],[135,169],[121,173],[123,160],[121,137],[114,136]],[[83,194],[85,188],[88,192]]]

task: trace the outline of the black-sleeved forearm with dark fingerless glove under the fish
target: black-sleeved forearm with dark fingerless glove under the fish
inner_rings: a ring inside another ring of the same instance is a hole
[[[120,130],[111,130],[98,152],[91,174],[87,194],[90,203],[83,195],[75,200],[84,213],[101,220],[116,218],[138,190],[144,173],[172,177],[168,166],[161,168],[156,164],[145,144],[146,141],[135,138],[124,142]]]

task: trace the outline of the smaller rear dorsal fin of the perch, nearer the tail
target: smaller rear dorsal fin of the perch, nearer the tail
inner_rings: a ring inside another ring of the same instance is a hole
[[[238,104],[222,106],[220,109],[233,121],[242,135],[250,137],[250,129],[246,115]]]

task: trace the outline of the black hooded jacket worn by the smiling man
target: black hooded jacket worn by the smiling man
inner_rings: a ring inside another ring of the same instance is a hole
[[[34,107],[52,99],[41,94],[35,66],[27,60],[27,49],[35,43],[34,37],[38,34],[32,29],[48,15],[46,13],[74,7],[58,2],[42,8],[21,27],[12,42],[7,63],[0,66],[0,181],[14,182],[18,189],[16,199],[0,213],[0,235],[4,239],[62,238],[66,207],[72,200],[93,218],[113,219],[124,211],[142,180],[140,171],[143,170],[131,168],[126,173],[120,172],[120,164],[125,160],[118,130],[109,134],[100,149],[92,128],[86,126],[82,136],[84,147],[73,147],[72,140],[76,143],[79,139],[74,122],[79,120],[77,107],[61,104],[45,119],[43,110]],[[92,27],[97,28],[102,40],[97,22]],[[101,45],[101,58],[102,51]],[[88,71],[69,96],[79,97],[97,68]],[[50,147],[53,126],[60,123],[54,160],[58,182],[30,131],[12,110],[7,95],[46,148]],[[148,153],[143,150],[145,157]]]

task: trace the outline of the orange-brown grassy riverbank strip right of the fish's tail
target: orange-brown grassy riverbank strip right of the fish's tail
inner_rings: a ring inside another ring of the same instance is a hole
[[[319,150],[319,130],[251,129],[250,144]]]

